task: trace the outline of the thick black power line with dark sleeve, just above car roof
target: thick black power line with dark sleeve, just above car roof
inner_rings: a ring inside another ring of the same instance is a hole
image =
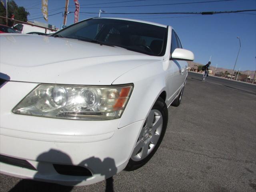
[[[248,11],[256,11],[254,10],[237,10],[237,11],[210,11],[210,12],[162,12],[162,13],[107,13],[103,12],[102,14],[119,14],[119,15],[157,15],[157,14],[202,14],[202,15],[212,15],[212,14],[222,14],[222,13],[239,13],[239,12],[248,12]],[[71,12],[73,13],[73,12]],[[86,14],[98,14],[96,12],[80,12]]]

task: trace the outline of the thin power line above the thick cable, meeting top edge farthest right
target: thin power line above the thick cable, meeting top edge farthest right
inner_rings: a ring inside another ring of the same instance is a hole
[[[201,1],[201,2],[185,2],[185,3],[168,3],[168,4],[150,4],[150,5],[129,5],[129,6],[107,6],[107,7],[80,7],[80,8],[121,8],[121,7],[146,7],[146,6],[163,6],[163,5],[182,5],[182,4],[198,4],[198,3],[212,3],[212,2],[226,2],[235,0],[214,0],[214,1]]]

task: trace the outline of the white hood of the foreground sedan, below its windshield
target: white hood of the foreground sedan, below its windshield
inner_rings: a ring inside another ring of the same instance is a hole
[[[163,60],[68,38],[1,34],[0,42],[1,78],[11,81],[110,85],[129,70]]]

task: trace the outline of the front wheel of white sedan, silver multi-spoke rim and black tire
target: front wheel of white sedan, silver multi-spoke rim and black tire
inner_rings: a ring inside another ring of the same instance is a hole
[[[162,98],[158,98],[144,122],[126,171],[136,170],[152,158],[162,142],[167,122],[167,106]]]

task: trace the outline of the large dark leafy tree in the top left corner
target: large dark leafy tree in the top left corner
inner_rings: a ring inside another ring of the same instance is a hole
[[[7,3],[8,3],[8,18],[11,18],[12,15],[14,15],[15,20],[24,21],[24,22],[28,21],[29,12],[27,12],[24,7],[18,6],[14,2],[14,0],[10,0]],[[6,17],[6,9],[2,5],[2,3],[0,3],[0,16]],[[6,24],[6,19],[0,18],[0,24]],[[13,25],[14,25],[14,22],[11,20],[8,20],[8,26],[13,26]]]

